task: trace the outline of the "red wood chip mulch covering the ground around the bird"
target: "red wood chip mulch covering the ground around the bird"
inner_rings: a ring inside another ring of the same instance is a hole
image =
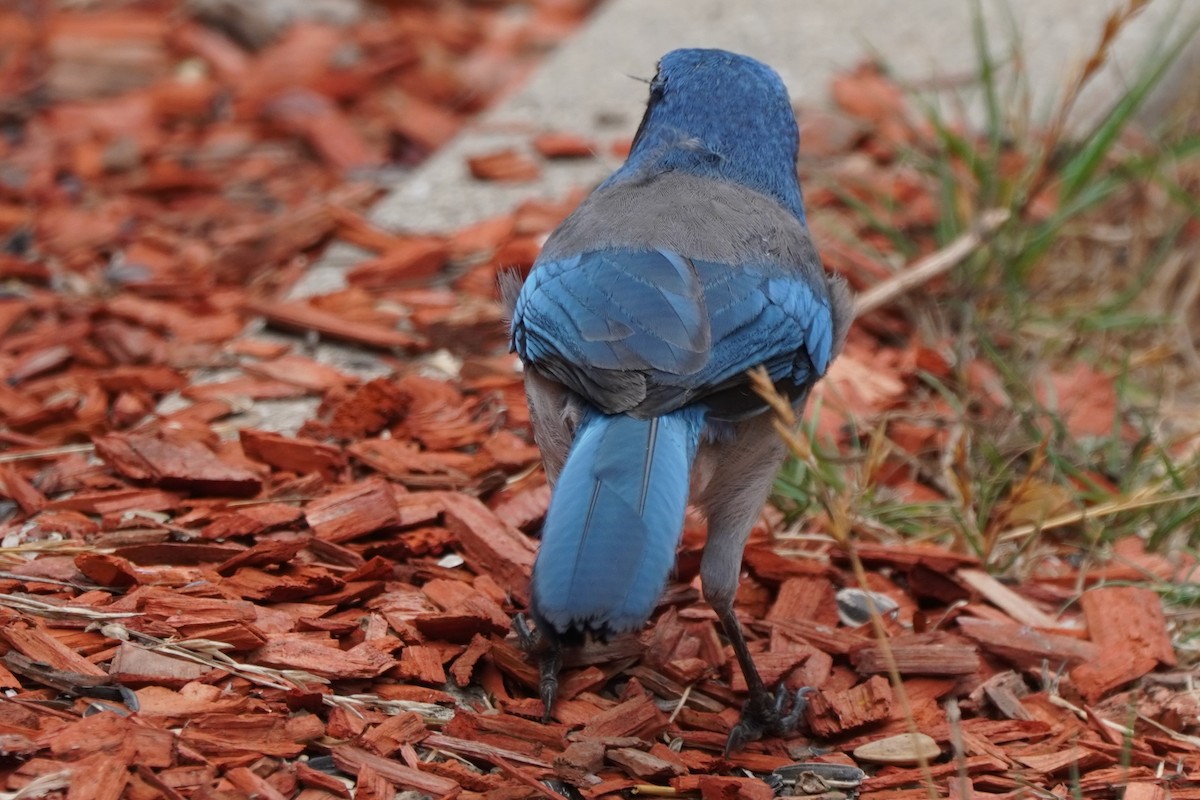
[[[818,690],[818,740],[721,754],[745,686],[697,591],[700,523],[654,624],[575,654],[540,721],[510,616],[548,489],[493,287],[577,198],[413,237],[368,224],[374,191],[347,175],[436,148],[588,2],[518,17],[380,4],[342,28],[241,31],[242,44],[146,11],[163,4],[30,5],[40,14],[0,13],[5,790],[499,800],[558,796],[551,780],[589,799],[646,784],[764,798],[750,774],[853,764],[907,729],[886,654],[839,622],[835,593],[854,585],[844,554],[779,555],[774,515],[746,553],[738,610],[767,680]],[[908,128],[842,101],[850,116],[816,118],[824,139],[810,128],[817,149],[899,174],[889,148]],[[919,241],[925,223],[912,224]],[[377,255],[343,291],[281,301],[334,237]],[[845,247],[827,254],[859,285],[878,277]],[[392,372],[362,380],[300,341],[245,333],[256,317],[380,350]],[[884,343],[898,321],[876,313],[853,335],[824,390],[830,435],[846,409],[928,404],[910,397],[917,369],[950,380],[935,349]],[[437,349],[462,357],[456,378],[422,372]],[[227,377],[198,380],[217,367]],[[973,374],[1002,410],[984,367]],[[288,397],[320,403],[295,435],[238,421],[247,401]],[[916,457],[944,431],[892,433]],[[899,465],[887,480],[934,492]],[[940,793],[1200,798],[1200,703],[1172,672],[1158,596],[1118,585],[1192,565],[1130,540],[1109,566],[1046,560],[1012,587],[932,546],[859,552],[869,588],[899,607],[890,649],[941,750]],[[866,796],[926,796],[911,764],[862,765]]]

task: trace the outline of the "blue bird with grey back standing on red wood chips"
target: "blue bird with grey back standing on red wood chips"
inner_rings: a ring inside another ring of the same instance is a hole
[[[684,515],[707,518],[706,601],[746,679],[728,750],[793,729],[803,697],[769,690],[734,609],[742,554],[786,456],[750,387],[763,367],[797,411],[841,350],[845,282],[809,234],[787,88],[720,49],[658,62],[629,156],[500,278],[551,500],[529,630],[546,717],[562,651],[641,630]]]

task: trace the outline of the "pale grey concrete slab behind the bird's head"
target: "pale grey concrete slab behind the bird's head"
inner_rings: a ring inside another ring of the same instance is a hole
[[[1032,108],[1050,109],[1062,86],[1092,53],[1114,8],[1128,0],[980,0],[992,53],[1014,49],[1025,60]],[[972,96],[978,59],[971,0],[608,0],[584,29],[551,55],[515,96],[470,125],[455,142],[401,182],[376,210],[397,230],[451,230],[511,210],[530,198],[559,198],[589,186],[617,166],[595,160],[547,164],[539,181],[484,184],[464,158],[500,148],[528,148],[533,133],[568,131],[607,146],[632,134],[646,86],[660,55],[677,47],[721,47],[775,67],[800,107],[828,102],[830,79],[876,55],[904,84],[942,86],[943,96]],[[1164,35],[1200,14],[1195,0],[1152,0],[1112,48],[1110,65],[1080,104],[1080,122],[1118,96]],[[1163,115],[1183,91],[1196,100],[1200,47],[1193,41],[1162,96]],[[948,92],[947,92],[948,89]]]

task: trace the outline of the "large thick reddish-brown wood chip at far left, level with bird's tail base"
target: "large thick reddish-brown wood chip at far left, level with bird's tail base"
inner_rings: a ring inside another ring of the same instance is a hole
[[[164,489],[250,497],[263,488],[258,475],[223,462],[197,441],[110,433],[95,446],[96,455],[122,476]]]

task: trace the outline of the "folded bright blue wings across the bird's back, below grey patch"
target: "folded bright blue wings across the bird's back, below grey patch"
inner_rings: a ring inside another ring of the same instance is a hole
[[[758,365],[775,381],[811,384],[832,357],[833,315],[826,287],[794,266],[605,249],[540,263],[512,342],[606,411],[662,414]]]

